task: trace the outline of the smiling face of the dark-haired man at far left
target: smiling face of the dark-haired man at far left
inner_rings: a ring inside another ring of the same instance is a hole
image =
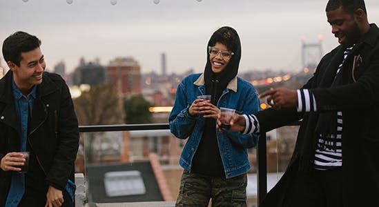
[[[46,68],[40,48],[29,52],[21,52],[20,66],[8,61],[8,66],[13,72],[14,83],[23,95],[28,95],[33,86],[42,83],[42,74]]]

